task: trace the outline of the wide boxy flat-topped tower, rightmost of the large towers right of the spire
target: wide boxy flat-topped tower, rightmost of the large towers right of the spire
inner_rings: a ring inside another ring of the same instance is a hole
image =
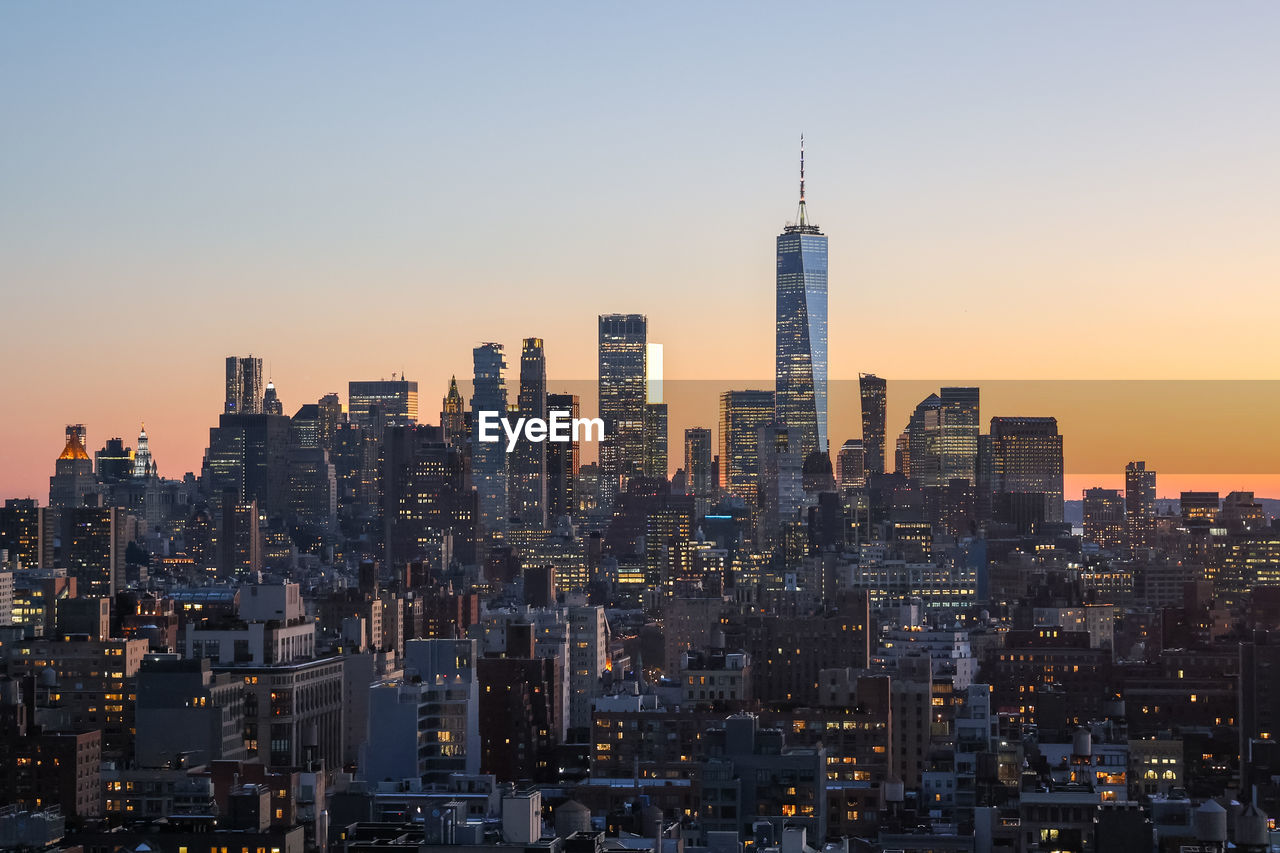
[[[1056,418],[991,419],[991,489],[998,520],[1062,521],[1062,437]]]

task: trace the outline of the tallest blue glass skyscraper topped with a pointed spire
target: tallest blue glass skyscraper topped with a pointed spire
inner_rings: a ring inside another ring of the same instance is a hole
[[[800,209],[777,240],[777,420],[804,456],[827,452],[827,237],[809,222],[800,141]]]

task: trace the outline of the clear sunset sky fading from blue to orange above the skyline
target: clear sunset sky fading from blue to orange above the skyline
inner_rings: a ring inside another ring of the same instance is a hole
[[[765,383],[800,132],[835,378],[1275,379],[1276,44],[1275,3],[3,4],[0,497],[76,421],[198,469],[229,353],[429,415],[477,342],[591,379],[641,311],[668,378]],[[1229,415],[1197,484],[1274,480]]]

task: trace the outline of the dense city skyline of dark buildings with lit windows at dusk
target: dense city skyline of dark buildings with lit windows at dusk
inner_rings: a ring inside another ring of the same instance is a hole
[[[640,314],[598,318],[598,411],[530,337],[296,407],[228,356],[182,476],[69,424],[0,510],[0,847],[1274,848],[1266,505],[1142,460],[1076,503],[1051,412],[978,387],[895,438],[863,374],[831,435],[803,142],[776,252],[772,387],[682,434]]]

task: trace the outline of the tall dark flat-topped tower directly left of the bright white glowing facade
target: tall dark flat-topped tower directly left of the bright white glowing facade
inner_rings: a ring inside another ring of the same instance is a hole
[[[643,314],[599,318],[599,398],[604,421],[599,502],[612,507],[634,476],[644,474],[649,321]]]

